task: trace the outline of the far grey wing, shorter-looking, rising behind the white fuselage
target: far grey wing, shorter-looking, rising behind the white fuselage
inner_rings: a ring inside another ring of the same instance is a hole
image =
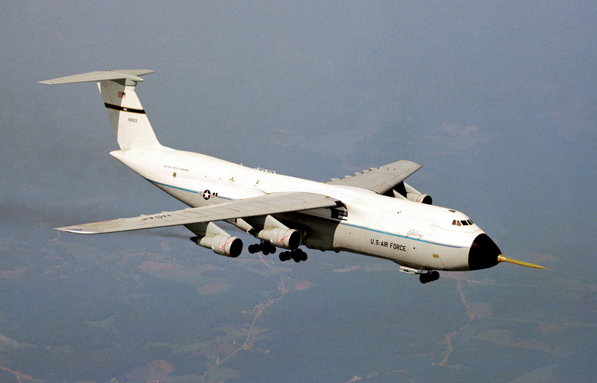
[[[388,163],[379,168],[364,170],[362,173],[348,175],[340,180],[333,179],[327,184],[360,187],[383,194],[404,181],[409,175],[421,168],[421,165],[406,160]]]

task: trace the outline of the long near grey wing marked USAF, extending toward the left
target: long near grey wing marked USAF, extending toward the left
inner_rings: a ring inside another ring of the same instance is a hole
[[[161,212],[133,218],[103,221],[77,226],[59,227],[57,230],[79,234],[113,233],[115,231],[141,230],[144,228],[177,226],[192,223],[231,220],[233,218],[258,217],[260,215],[334,208],[341,202],[315,193],[271,193],[200,208]]]

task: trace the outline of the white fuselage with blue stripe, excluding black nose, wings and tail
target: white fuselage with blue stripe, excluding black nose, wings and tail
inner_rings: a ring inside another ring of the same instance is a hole
[[[198,153],[162,147],[110,154],[192,207],[282,191],[341,200],[345,209],[339,217],[330,209],[276,215],[304,228],[303,244],[311,249],[385,258],[414,270],[471,270],[469,250],[483,233],[475,224],[453,225],[469,219],[454,210],[247,168]]]

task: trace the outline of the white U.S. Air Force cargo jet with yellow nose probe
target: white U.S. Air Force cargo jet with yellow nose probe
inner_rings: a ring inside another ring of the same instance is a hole
[[[347,251],[396,262],[421,283],[439,271],[469,271],[511,262],[469,217],[432,205],[432,197],[404,180],[421,165],[399,160],[326,183],[248,168],[199,153],[162,146],[139,98],[140,76],[152,70],[105,70],[41,84],[97,82],[120,150],[110,152],[141,177],[189,208],[140,217],[59,227],[78,234],[183,225],[191,240],[226,257],[238,257],[242,240],[218,226],[224,221],[259,240],[248,252],[279,260],[307,260],[301,249]]]

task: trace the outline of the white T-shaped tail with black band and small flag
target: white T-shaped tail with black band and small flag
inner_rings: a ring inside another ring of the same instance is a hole
[[[161,147],[135,92],[139,76],[153,70],[105,70],[40,81],[41,84],[68,84],[97,81],[101,97],[110,116],[120,149]]]

